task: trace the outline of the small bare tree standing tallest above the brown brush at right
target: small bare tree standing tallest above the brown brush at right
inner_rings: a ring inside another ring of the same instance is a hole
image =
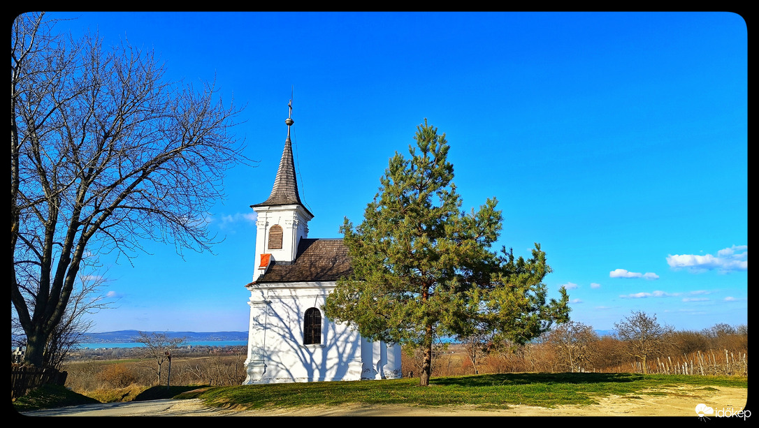
[[[614,329],[625,341],[628,355],[641,359],[644,374],[648,373],[646,360],[669,347],[669,336],[674,331],[671,326],[661,326],[656,314],[648,316],[643,311],[633,311],[630,316],[614,324]]]

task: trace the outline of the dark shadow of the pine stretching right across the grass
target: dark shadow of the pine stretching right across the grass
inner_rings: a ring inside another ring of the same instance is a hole
[[[432,378],[430,384],[441,386],[499,386],[535,383],[635,382],[641,379],[644,379],[644,376],[635,373],[499,373]]]

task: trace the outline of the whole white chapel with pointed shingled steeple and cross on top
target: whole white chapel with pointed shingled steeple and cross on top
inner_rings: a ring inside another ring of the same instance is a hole
[[[290,127],[272,193],[257,213],[256,270],[250,291],[244,385],[393,379],[401,348],[369,342],[322,310],[336,281],[351,272],[342,238],[308,238],[313,214],[298,196]]]

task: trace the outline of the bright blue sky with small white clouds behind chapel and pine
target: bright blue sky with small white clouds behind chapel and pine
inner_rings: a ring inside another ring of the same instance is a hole
[[[95,332],[245,331],[250,205],[269,196],[294,93],[312,238],[361,222],[396,151],[445,132],[465,209],[496,197],[500,245],[546,251],[553,297],[613,329],[748,323],[748,39],[730,13],[51,13],[106,45],[155,49],[170,80],[245,105],[256,167],[225,181],[215,254],[145,243],[107,261]]]

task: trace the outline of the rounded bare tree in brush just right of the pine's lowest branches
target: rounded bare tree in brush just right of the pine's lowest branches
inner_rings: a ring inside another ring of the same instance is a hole
[[[572,373],[592,363],[598,341],[593,327],[577,321],[556,326],[546,338]]]

